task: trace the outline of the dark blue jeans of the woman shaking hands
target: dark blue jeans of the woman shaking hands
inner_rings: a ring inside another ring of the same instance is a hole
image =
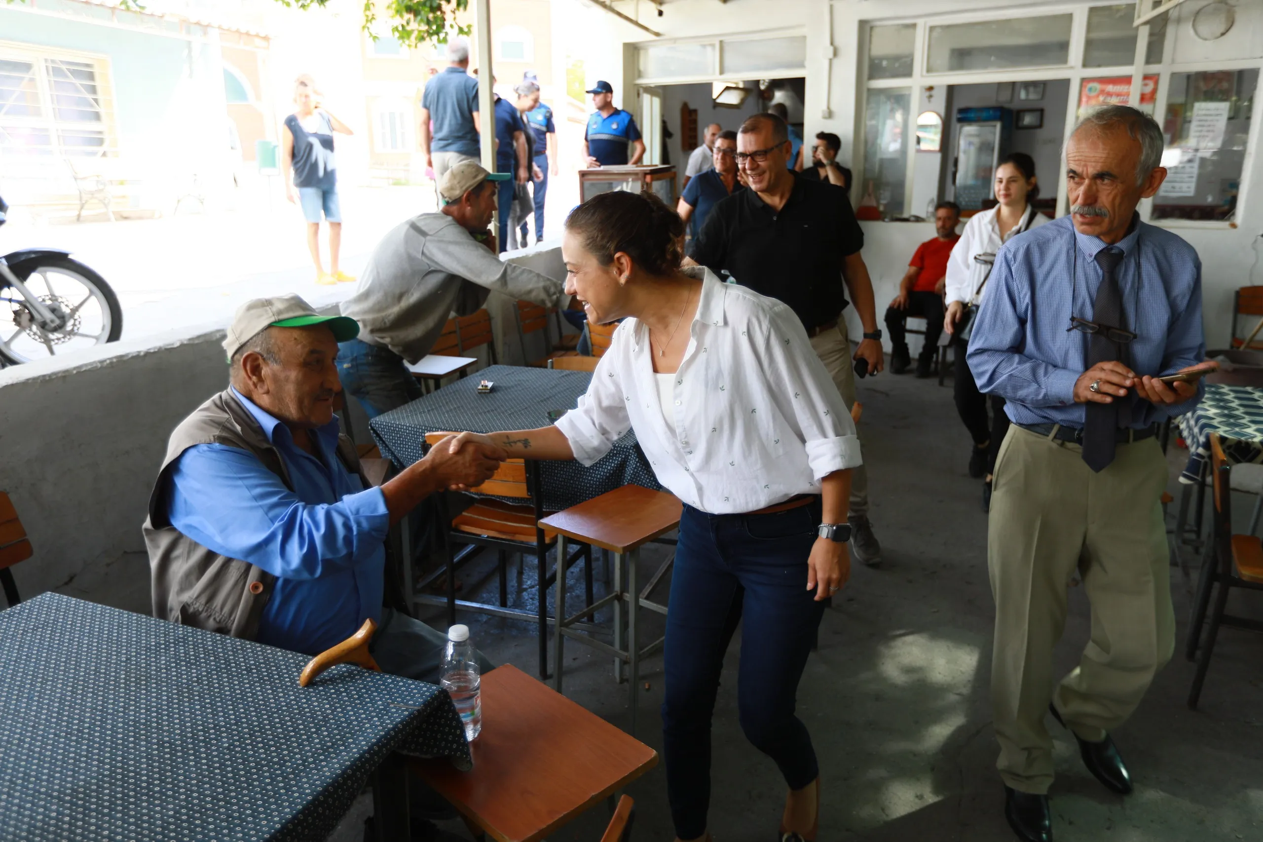
[[[820,517],[818,499],[775,515],[707,515],[685,506],[671,574],[662,703],[667,795],[682,839],[706,832],[711,713],[738,611],[741,729],[775,761],[789,789],[802,789],[818,775],[794,703],[825,611],[807,590],[807,559]]]

